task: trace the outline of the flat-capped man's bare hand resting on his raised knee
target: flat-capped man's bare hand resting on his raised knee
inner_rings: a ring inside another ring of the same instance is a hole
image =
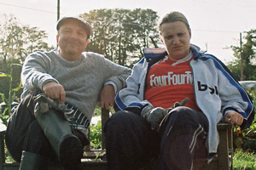
[[[46,82],[44,84],[43,91],[50,99],[59,100],[61,103],[65,102],[66,93],[61,84],[56,82]]]

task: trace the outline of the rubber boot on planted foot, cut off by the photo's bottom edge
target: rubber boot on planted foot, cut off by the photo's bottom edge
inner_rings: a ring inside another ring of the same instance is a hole
[[[22,151],[19,170],[47,170],[49,159],[44,156]]]

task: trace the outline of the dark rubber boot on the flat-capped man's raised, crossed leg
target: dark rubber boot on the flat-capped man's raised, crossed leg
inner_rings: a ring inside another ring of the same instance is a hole
[[[81,162],[83,146],[79,138],[72,133],[67,120],[59,116],[59,113],[49,109],[46,113],[35,111],[35,116],[61,164],[63,167],[69,167]]]

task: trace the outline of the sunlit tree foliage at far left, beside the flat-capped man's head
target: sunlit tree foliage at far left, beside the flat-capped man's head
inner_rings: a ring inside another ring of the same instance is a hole
[[[48,43],[44,42],[48,37],[45,31],[39,31],[38,27],[23,26],[13,15],[3,15],[1,18],[0,54],[4,62],[12,58],[22,64],[27,54],[50,49]]]

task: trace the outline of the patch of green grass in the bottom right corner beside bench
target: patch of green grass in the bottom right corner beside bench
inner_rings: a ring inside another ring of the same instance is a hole
[[[256,153],[236,150],[233,164],[235,170],[256,170]]]

